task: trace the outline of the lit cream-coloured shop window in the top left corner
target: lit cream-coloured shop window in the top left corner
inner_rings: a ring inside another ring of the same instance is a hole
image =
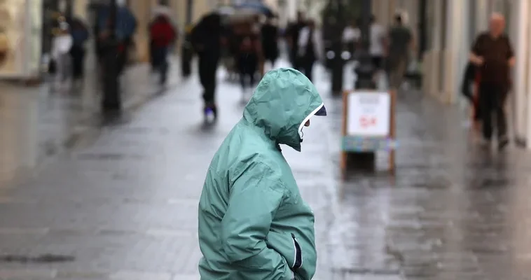
[[[39,76],[42,0],[0,2],[0,78]]]

